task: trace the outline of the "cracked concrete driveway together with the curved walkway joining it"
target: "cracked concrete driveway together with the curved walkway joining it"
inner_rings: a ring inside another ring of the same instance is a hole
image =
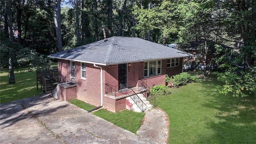
[[[152,116],[147,115],[152,112],[154,109],[146,112],[144,124],[151,119]],[[166,127],[166,131],[159,135],[168,133]],[[1,144],[155,144],[165,142],[167,138],[151,138],[142,127],[138,134],[50,95],[0,105]]]

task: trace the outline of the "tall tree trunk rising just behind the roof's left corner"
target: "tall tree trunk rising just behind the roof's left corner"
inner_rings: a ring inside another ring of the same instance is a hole
[[[62,51],[60,0],[53,0],[53,11],[54,11],[54,24],[55,24],[55,30],[56,30],[58,51],[60,52]]]

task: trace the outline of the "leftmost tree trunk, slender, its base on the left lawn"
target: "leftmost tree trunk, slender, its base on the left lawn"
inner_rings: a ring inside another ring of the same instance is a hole
[[[12,11],[11,11],[11,0],[6,1],[6,13],[7,13],[7,19],[8,19],[8,33],[9,33],[9,40],[12,43],[13,42],[13,32],[12,32]],[[12,65],[13,61],[13,54],[14,51],[12,49],[12,46],[9,46],[9,83],[15,83],[14,78],[14,69]]]

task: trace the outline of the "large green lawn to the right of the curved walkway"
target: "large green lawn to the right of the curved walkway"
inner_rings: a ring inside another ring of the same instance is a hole
[[[169,116],[168,144],[255,144],[256,97],[222,95],[218,84],[208,78],[157,97]]]

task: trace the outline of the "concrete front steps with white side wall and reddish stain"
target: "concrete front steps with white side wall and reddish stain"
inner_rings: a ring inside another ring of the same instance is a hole
[[[145,104],[145,105],[143,104],[144,109],[146,106],[146,109],[144,110],[144,112],[153,107],[152,105],[150,105],[149,101],[147,101],[147,99],[143,96],[143,94],[139,93],[137,95],[144,102],[144,104]],[[137,96],[132,95],[131,97],[137,97]],[[142,112],[142,110],[136,105],[136,103],[132,100],[131,97],[126,97],[126,109],[132,110],[135,112]],[[140,101],[140,100],[138,100],[138,101]]]

